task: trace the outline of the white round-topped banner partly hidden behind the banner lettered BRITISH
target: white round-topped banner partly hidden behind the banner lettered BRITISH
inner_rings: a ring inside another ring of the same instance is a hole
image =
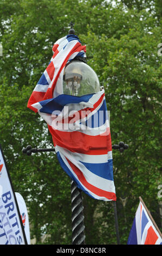
[[[21,194],[17,192],[15,192],[15,194],[16,194],[16,199],[18,203],[18,208],[20,210],[20,215],[22,218],[23,227],[25,230],[25,236],[27,237],[28,245],[30,245],[30,228],[29,228],[29,217],[28,217],[27,206]]]

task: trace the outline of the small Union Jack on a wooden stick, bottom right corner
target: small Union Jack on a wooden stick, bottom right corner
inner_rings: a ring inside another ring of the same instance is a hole
[[[128,245],[162,245],[160,230],[153,224],[150,216],[146,206],[140,202],[128,237]]]

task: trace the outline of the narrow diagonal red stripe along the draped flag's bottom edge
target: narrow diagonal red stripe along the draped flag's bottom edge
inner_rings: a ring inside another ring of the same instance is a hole
[[[67,158],[66,158],[67,159]],[[109,200],[116,200],[116,194],[113,192],[108,192],[105,190],[101,190],[98,187],[93,186],[92,184],[90,184],[86,179],[85,176],[82,174],[81,170],[78,169],[72,162],[70,162],[67,159],[70,167],[73,169],[74,173],[77,175],[77,178],[79,179],[79,181],[82,183],[83,186],[85,186],[88,190],[90,190],[91,192],[93,192],[94,194],[96,194],[99,197],[106,197]]]

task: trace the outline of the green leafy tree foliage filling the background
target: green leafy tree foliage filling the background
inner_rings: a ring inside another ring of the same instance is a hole
[[[114,1],[113,1],[114,2]],[[15,191],[27,203],[31,238],[71,243],[70,179],[54,153],[24,156],[22,148],[53,147],[47,124],[27,102],[70,21],[88,64],[105,87],[111,111],[114,181],[121,243],[126,243],[141,196],[160,228],[160,1],[1,0],[0,143]],[[121,199],[126,198],[126,204]],[[83,195],[86,243],[115,244],[113,202]]]

